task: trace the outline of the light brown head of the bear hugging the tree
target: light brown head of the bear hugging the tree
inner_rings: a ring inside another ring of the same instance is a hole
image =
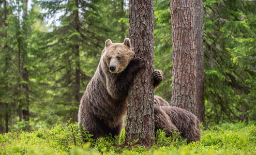
[[[123,43],[112,43],[108,39],[105,42],[102,54],[102,59],[109,67],[109,71],[111,73],[121,73],[133,59],[134,50],[129,38],[125,38]]]

